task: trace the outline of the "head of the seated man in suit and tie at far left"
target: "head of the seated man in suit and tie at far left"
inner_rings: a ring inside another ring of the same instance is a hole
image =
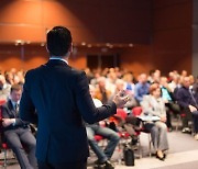
[[[10,99],[13,102],[18,102],[21,99],[22,87],[20,84],[13,84],[10,90]]]

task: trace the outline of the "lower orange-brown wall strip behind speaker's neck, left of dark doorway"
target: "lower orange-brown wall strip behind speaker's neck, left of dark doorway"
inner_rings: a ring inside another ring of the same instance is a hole
[[[23,47],[23,49],[22,49]],[[10,70],[16,68],[18,70],[29,70],[36,68],[48,60],[48,54],[44,46],[38,45],[0,45],[0,70]],[[87,66],[86,53],[80,52],[77,55],[72,55],[69,65],[84,69]]]

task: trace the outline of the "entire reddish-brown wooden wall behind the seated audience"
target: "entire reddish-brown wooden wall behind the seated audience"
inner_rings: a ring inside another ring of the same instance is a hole
[[[108,0],[106,5],[100,0],[1,0],[0,42],[43,42],[47,29],[62,24],[72,30],[75,42],[138,43],[133,48],[112,49],[120,55],[121,67],[135,75],[156,68],[163,74],[173,69],[191,72],[191,0],[152,2],[153,8],[150,0]],[[19,4],[20,11],[15,10]],[[48,59],[44,47],[25,45],[24,58],[19,47],[0,45],[0,67],[30,69]],[[101,53],[101,48],[80,49],[69,64],[85,68],[86,55],[91,53]]]

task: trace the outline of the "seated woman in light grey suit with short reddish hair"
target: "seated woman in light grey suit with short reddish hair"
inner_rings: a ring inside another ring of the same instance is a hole
[[[156,121],[145,121],[144,128],[151,133],[156,157],[164,160],[166,156],[165,150],[168,149],[166,110],[164,101],[161,98],[161,87],[158,83],[151,84],[150,95],[145,95],[141,104],[143,115],[158,119]]]

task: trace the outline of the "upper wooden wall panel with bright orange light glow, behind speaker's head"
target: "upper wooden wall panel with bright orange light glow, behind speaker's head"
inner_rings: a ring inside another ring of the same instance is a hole
[[[68,26],[75,42],[148,44],[151,0],[0,1],[0,42],[43,42],[55,25]]]

